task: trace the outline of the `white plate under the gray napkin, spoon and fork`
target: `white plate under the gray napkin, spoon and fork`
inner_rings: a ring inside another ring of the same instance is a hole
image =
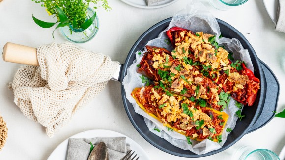
[[[140,156],[140,160],[150,160],[142,147],[131,138],[111,130],[88,130],[75,134],[69,138],[95,138],[95,137],[126,137],[127,143],[131,145],[131,150]],[[68,138],[68,139],[69,139]],[[66,160],[68,139],[60,143],[57,148],[49,156],[48,160]]]

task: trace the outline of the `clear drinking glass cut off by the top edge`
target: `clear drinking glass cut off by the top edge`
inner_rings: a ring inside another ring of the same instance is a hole
[[[219,10],[228,10],[232,7],[244,4],[248,0],[209,0],[210,4]]]

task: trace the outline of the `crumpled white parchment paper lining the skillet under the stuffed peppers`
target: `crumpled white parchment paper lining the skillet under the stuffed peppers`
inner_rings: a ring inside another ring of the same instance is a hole
[[[189,0],[189,4],[185,9],[179,11],[177,14],[173,16],[173,19],[170,22],[170,25],[167,29],[161,32],[158,38],[150,40],[147,45],[157,46],[157,47],[164,47],[169,51],[173,50],[171,44],[167,44],[165,39],[168,39],[166,36],[166,31],[169,30],[171,27],[178,26],[188,30],[192,30],[195,32],[209,33],[216,35],[216,41],[219,43],[220,46],[225,46],[225,48],[233,53],[233,57],[235,60],[244,61],[247,64],[247,67],[254,71],[253,64],[251,62],[249,52],[247,49],[244,49],[241,43],[237,39],[229,39],[229,38],[220,38],[220,28],[215,19],[215,17],[206,10],[206,7],[200,3],[198,0]],[[135,99],[131,96],[131,92],[136,87],[142,87],[145,84],[142,83],[142,80],[139,76],[141,74],[137,73],[137,64],[139,64],[142,60],[143,54],[138,54],[139,52],[145,53],[144,51],[138,51],[136,53],[136,60],[133,64],[128,68],[127,75],[123,80],[124,89],[126,91],[126,98],[129,100],[130,103],[133,104],[136,113],[142,115],[144,117],[144,121],[149,128],[149,130],[156,134],[157,136],[164,138],[172,145],[179,147],[184,150],[190,150],[196,154],[205,154],[211,152],[213,150],[217,150],[223,146],[223,144],[227,140],[227,136],[229,132],[226,132],[227,128],[233,129],[235,127],[237,117],[235,116],[235,112],[238,108],[235,106],[235,100],[230,97],[230,102],[228,104],[228,108],[224,109],[229,116],[226,126],[222,133],[222,142],[217,143],[213,142],[209,139],[205,139],[201,142],[191,140],[193,143],[189,145],[187,143],[186,137],[180,133],[175,131],[167,130],[167,127],[163,126],[161,122],[154,119],[153,117],[149,116],[145,113],[139,105],[136,103]],[[161,130],[160,132],[154,130],[154,128],[158,128]]]

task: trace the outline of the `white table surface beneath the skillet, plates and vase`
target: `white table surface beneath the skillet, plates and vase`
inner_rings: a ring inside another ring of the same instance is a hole
[[[112,60],[121,64],[144,31],[171,17],[188,3],[188,0],[179,0],[165,8],[145,10],[129,6],[120,0],[108,1],[112,11],[97,11],[100,19],[98,34],[90,42],[80,45],[109,55]],[[240,31],[254,47],[257,56],[273,70],[280,83],[277,111],[282,111],[285,108],[285,72],[281,69],[280,56],[285,54],[285,33],[274,31],[275,25],[269,18],[262,0],[249,0],[228,11],[216,10],[206,0],[201,1],[215,17]],[[59,31],[55,32],[54,40],[53,29],[37,26],[31,14],[42,20],[52,21],[52,16],[47,15],[45,8],[31,0],[3,0],[0,3],[0,48],[6,42],[38,47],[54,41],[64,41]],[[46,160],[66,138],[91,129],[108,129],[129,136],[145,149],[152,160],[186,160],[165,153],[142,138],[125,112],[121,99],[121,84],[114,81],[110,81],[99,96],[78,111],[54,138],[48,138],[44,127],[23,116],[13,103],[13,93],[6,85],[13,79],[20,64],[0,61],[0,114],[8,127],[8,139],[0,151],[0,160]],[[279,154],[285,145],[284,124],[285,119],[273,118],[266,126],[246,134],[227,150],[199,160],[230,159],[235,149],[243,145],[267,148]]]

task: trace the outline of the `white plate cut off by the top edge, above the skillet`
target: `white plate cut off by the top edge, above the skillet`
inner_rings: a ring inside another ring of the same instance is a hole
[[[125,2],[131,6],[138,7],[138,8],[143,8],[143,9],[156,9],[156,8],[161,8],[168,6],[178,0],[164,0],[158,3],[151,4],[150,6],[146,5],[145,0],[121,0],[122,2]]]

